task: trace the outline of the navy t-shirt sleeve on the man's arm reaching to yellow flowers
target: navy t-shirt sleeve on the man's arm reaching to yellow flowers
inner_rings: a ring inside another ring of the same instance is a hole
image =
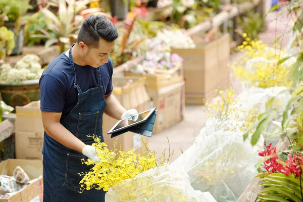
[[[39,80],[40,110],[47,112],[62,112],[65,103],[63,83],[51,74],[44,74]]]

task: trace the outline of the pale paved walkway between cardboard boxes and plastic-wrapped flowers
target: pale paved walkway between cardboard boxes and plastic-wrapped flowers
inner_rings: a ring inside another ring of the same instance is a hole
[[[266,10],[270,8],[270,2],[266,2]],[[263,40],[264,43],[273,44],[274,40],[289,26],[289,18],[286,15],[282,15],[277,18],[277,13],[273,12],[266,17],[266,31],[259,35],[259,38]],[[282,45],[285,46],[289,41],[289,35],[285,35],[279,40]],[[237,60],[238,54],[231,54],[230,61]],[[230,71],[231,72],[231,71]],[[233,88],[238,92],[241,91],[241,84],[239,81],[235,80],[232,76],[230,81],[233,84]],[[157,151],[157,156],[160,157],[164,148],[168,149],[168,142],[166,136],[169,138],[170,147],[174,149],[173,162],[182,154],[182,150],[185,151],[194,142],[194,137],[199,133],[199,131],[204,127],[207,120],[206,114],[204,113],[204,106],[186,106],[185,109],[185,119],[176,124],[175,126],[166,129],[158,134],[154,134],[149,138],[148,146],[151,150]]]

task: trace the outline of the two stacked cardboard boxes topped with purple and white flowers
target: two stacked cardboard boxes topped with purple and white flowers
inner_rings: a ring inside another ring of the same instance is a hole
[[[132,73],[132,68],[135,67],[130,67],[125,75],[146,77],[145,87],[151,99],[148,108],[158,109],[153,133],[159,133],[182,121],[185,112],[182,63],[171,70],[150,70],[154,74],[149,75]]]

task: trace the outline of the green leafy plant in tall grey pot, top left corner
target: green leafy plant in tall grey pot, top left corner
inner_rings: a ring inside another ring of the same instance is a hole
[[[2,0],[0,9],[2,10],[5,7],[9,7],[9,11],[7,12],[8,21],[4,25],[15,34],[16,46],[12,51],[12,55],[20,55],[23,50],[24,25],[26,24],[22,17],[32,7],[29,4],[29,0]]]

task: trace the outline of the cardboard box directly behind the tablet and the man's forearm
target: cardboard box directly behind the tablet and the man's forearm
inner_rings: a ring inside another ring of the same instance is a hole
[[[133,83],[128,85],[129,80],[132,80]],[[134,108],[138,113],[148,110],[148,101],[150,98],[144,87],[144,82],[144,77],[113,77],[113,94],[126,110]],[[118,150],[134,149],[135,152],[138,152],[139,147],[143,146],[138,134],[127,132],[114,138],[111,138],[111,135],[107,134],[116,123],[117,120],[106,114],[103,116],[103,136],[108,148],[114,149],[114,141],[116,141],[116,148]],[[142,136],[142,138],[144,142],[148,143],[148,137]],[[144,151],[144,147],[141,148]]]

